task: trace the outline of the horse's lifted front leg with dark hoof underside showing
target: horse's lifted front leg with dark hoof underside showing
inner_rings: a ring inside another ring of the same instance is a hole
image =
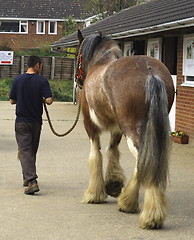
[[[106,192],[108,195],[118,197],[124,186],[125,176],[120,166],[120,152],[118,145],[121,141],[122,133],[119,131],[111,132],[111,139],[107,148],[108,165],[105,177]]]

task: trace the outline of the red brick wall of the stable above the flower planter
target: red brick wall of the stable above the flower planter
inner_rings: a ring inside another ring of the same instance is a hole
[[[190,142],[194,142],[194,88],[181,86],[184,82],[182,66],[183,35],[180,35],[178,39],[176,130],[187,132]]]

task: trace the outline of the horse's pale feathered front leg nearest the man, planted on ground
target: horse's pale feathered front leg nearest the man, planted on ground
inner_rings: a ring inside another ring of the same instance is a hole
[[[104,202],[107,194],[102,173],[102,154],[100,152],[99,137],[90,140],[89,155],[90,182],[84,194],[83,203]]]

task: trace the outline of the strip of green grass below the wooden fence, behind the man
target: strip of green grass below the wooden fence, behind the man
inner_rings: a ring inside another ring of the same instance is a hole
[[[0,79],[0,101],[9,100],[9,92],[13,79]],[[50,80],[54,101],[73,101],[73,81],[72,80]]]

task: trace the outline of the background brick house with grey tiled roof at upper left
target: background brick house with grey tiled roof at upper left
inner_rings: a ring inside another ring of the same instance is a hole
[[[82,0],[0,0],[0,46],[36,48],[62,37],[69,16],[84,24]]]

